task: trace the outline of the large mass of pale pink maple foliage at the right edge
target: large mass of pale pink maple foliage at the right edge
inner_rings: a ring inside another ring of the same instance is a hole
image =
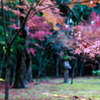
[[[95,12],[91,12],[89,19],[90,23],[85,22],[85,25],[77,25],[73,28],[78,47],[75,53],[81,52],[90,57],[100,55],[100,16]]]

